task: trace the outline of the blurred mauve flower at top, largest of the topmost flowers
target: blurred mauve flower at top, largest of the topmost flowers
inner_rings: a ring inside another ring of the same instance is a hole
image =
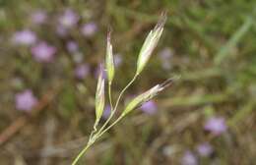
[[[79,21],[79,16],[71,9],[66,9],[59,18],[59,23],[62,27],[70,28],[76,26]]]

